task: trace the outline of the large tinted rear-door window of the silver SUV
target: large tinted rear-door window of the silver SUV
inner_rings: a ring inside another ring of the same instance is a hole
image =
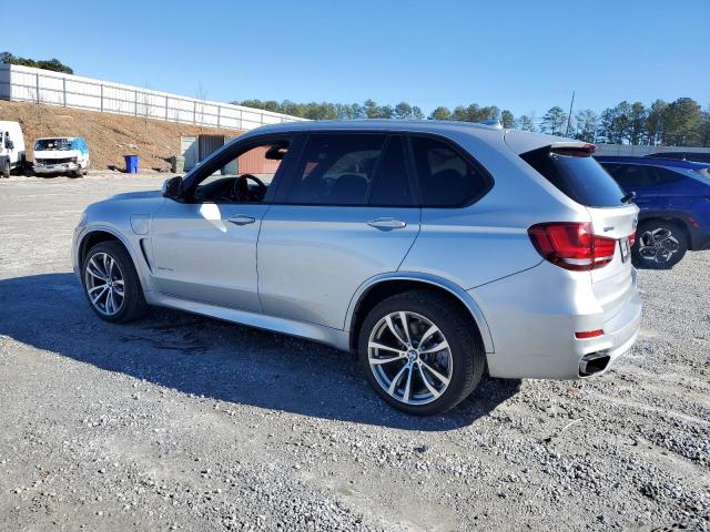
[[[383,144],[383,135],[311,135],[286,201],[364,205]]]

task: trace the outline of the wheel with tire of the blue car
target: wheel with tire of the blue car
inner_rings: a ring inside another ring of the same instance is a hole
[[[666,219],[641,222],[631,248],[633,266],[647,269],[670,269],[690,247],[688,234],[679,224]]]

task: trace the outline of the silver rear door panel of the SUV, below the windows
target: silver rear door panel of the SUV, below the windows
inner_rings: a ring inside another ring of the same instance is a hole
[[[419,208],[274,205],[258,239],[264,311],[342,329],[357,288],[397,270],[419,218]]]

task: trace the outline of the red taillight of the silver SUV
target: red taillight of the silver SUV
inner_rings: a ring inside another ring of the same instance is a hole
[[[609,264],[617,241],[595,235],[589,222],[550,222],[528,229],[530,241],[547,260],[560,268],[588,272]]]

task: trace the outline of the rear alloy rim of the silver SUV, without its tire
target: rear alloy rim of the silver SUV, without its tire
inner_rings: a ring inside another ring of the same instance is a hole
[[[377,321],[367,355],[377,383],[406,405],[435,401],[452,380],[448,341],[436,325],[416,313],[390,313]]]

